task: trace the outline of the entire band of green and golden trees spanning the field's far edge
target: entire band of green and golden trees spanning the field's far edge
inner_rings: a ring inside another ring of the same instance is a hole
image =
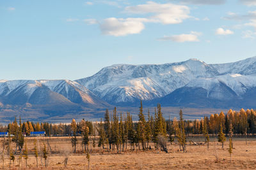
[[[211,135],[220,134],[220,131],[225,136],[231,137],[234,134],[245,137],[248,134],[256,134],[255,110],[228,110],[226,115],[221,112],[199,120],[183,120],[182,110],[180,110],[179,120],[177,118],[166,120],[163,117],[160,104],[157,105],[154,114],[150,114],[149,111],[147,113],[143,111],[141,103],[138,117],[139,120],[134,122],[129,112],[118,114],[115,108],[111,113],[106,110],[104,120],[100,122],[90,122],[84,119],[76,122],[73,119],[71,124],[29,121],[23,123],[20,121],[18,124],[15,118],[14,122],[8,124],[7,127],[0,126],[0,130],[8,131],[14,136],[17,136],[17,131],[28,136],[33,131],[45,131],[47,136],[72,136],[74,152],[76,152],[78,136],[81,136],[82,143],[80,144],[83,145],[83,150],[92,144],[92,146],[122,152],[127,145],[134,150],[137,148],[145,150],[145,148],[151,147],[148,145],[151,142],[154,143],[154,147],[165,150],[166,143],[168,141],[172,143],[175,137],[177,137],[182,150],[186,150],[186,136],[191,134],[202,135],[205,137],[205,141]],[[19,145],[17,144],[17,146]]]

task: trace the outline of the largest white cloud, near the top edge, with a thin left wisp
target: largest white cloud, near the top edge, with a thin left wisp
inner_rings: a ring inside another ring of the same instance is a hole
[[[127,6],[125,8],[127,13],[136,14],[150,14],[148,22],[161,22],[162,24],[179,24],[188,18],[190,10],[188,6],[177,4],[159,4],[148,1],[146,4],[139,4],[137,6]]]

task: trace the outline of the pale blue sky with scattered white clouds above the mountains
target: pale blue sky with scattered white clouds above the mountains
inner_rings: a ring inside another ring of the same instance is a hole
[[[256,0],[0,0],[0,80],[256,56]]]

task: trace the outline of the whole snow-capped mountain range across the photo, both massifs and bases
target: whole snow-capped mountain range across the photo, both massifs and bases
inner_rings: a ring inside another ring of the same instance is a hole
[[[63,115],[113,106],[255,108],[256,57],[226,64],[197,59],[115,64],[79,80],[0,80],[0,113]],[[22,108],[22,109],[21,109]],[[21,112],[21,111],[20,111]]]

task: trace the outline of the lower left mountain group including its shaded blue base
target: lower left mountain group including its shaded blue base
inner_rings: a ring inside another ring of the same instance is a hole
[[[6,111],[63,115],[110,105],[70,80],[0,81],[0,113]],[[17,113],[17,114],[18,114]]]

